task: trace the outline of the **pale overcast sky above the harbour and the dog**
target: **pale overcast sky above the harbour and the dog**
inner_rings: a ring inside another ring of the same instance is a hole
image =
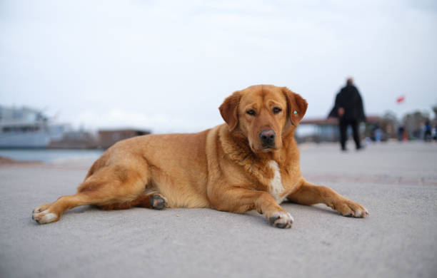
[[[432,0],[2,0],[0,105],[76,127],[196,131],[260,83],[325,117],[353,76],[368,115],[400,114],[437,103],[436,49]]]

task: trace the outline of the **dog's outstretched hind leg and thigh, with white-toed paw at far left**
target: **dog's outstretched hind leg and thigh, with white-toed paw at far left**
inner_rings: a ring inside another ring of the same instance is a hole
[[[37,207],[32,212],[32,219],[45,224],[58,221],[66,210],[81,205],[102,207],[150,199],[150,196],[144,195],[145,186],[149,182],[147,165],[136,166],[143,166],[142,171],[121,165],[96,170],[79,185],[75,195],[65,195],[55,202]],[[143,202],[138,202],[137,205],[141,204]]]

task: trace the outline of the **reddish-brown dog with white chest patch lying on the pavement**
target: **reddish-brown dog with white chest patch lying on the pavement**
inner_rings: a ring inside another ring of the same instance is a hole
[[[361,205],[303,179],[294,131],[307,105],[285,87],[236,91],[219,108],[226,124],[201,133],[144,135],[116,143],[92,165],[75,195],[37,207],[32,219],[56,222],[79,205],[105,210],[211,207],[257,210],[275,227],[289,228],[293,217],[279,205],[286,199],[365,217]]]

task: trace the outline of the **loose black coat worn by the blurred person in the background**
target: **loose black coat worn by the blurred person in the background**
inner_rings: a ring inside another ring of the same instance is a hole
[[[336,103],[329,113],[328,117],[338,118],[338,108],[344,108],[344,114],[341,117],[344,120],[366,120],[364,115],[363,101],[360,93],[353,85],[345,86],[336,96]]]

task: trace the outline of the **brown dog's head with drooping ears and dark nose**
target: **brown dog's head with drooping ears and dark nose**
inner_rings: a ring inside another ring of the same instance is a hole
[[[236,91],[220,106],[231,133],[248,139],[253,152],[270,152],[282,147],[305,115],[308,103],[286,87],[251,86]]]

